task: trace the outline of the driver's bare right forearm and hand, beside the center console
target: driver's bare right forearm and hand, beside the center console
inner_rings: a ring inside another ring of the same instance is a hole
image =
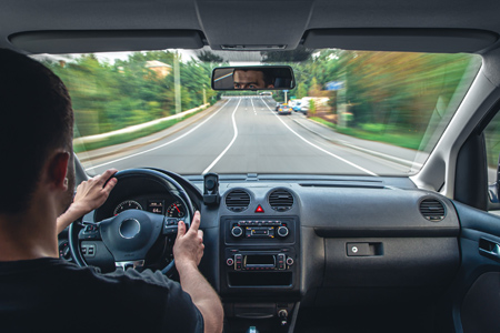
[[[179,231],[173,256],[179,272],[182,289],[191,296],[192,302],[201,312],[204,332],[222,332],[224,312],[219,295],[201,275],[198,265],[203,256],[203,232],[200,228],[200,212],[194,213],[188,232],[186,224],[179,222]]]

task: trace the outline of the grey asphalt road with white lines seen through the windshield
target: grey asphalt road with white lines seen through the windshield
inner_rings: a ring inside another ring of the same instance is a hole
[[[299,125],[300,113],[278,115],[270,98],[229,98],[177,133],[120,157],[83,163],[91,173],[154,167],[180,174],[404,174],[408,167],[334,144]]]

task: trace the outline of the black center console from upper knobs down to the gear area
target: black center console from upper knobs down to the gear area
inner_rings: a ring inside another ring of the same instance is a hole
[[[270,332],[287,332],[300,300],[298,218],[222,216],[220,225],[220,293],[228,321],[233,327],[257,321],[273,327]]]

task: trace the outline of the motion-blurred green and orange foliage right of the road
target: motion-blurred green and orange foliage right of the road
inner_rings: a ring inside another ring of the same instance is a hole
[[[384,139],[377,138],[418,149],[420,142],[428,142],[429,138],[422,139],[426,133],[439,129],[440,121],[454,112],[479,64],[473,54],[321,50],[291,64],[297,88],[290,94],[328,97],[333,114],[339,103],[344,104],[347,114],[352,114],[348,125],[356,129],[342,131],[363,138],[370,133],[370,140],[383,134]],[[331,81],[343,82],[344,89],[326,91]],[[404,135],[411,143],[403,142]]]

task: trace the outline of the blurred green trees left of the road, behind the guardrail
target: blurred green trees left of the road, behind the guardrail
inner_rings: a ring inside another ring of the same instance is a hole
[[[216,61],[179,62],[182,110],[197,108],[220,98],[210,88]],[[44,61],[59,75],[71,95],[77,122],[74,137],[93,135],[148,122],[176,113],[173,65],[177,53],[170,51],[133,52],[126,60],[108,63],[94,54],[84,54],[61,67]],[[148,68],[148,61],[162,62],[167,74]]]

